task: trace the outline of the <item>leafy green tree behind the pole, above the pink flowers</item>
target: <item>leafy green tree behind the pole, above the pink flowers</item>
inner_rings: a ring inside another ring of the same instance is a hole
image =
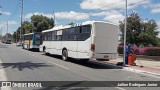
[[[120,31],[122,32],[121,42],[124,38],[124,21],[120,21]],[[126,42],[137,46],[157,46],[158,45],[157,24],[154,20],[144,22],[137,13],[133,12],[127,17]]]

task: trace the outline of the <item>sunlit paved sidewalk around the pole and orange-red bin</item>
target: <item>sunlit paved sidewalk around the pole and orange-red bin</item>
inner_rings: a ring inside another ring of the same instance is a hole
[[[160,59],[160,58],[159,58]],[[117,62],[123,62],[123,57],[119,56],[116,60],[106,61],[106,63],[116,64]],[[143,59],[137,58],[136,66],[126,65],[123,69],[134,71],[134,72],[143,72],[149,73],[154,75],[160,75],[160,60],[150,60],[150,59]]]

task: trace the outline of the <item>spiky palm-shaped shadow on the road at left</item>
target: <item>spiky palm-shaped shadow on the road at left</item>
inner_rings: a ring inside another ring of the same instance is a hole
[[[46,65],[45,63],[32,63],[31,61],[28,62],[17,62],[17,63],[0,63],[1,68],[9,68],[18,69],[22,71],[24,69],[39,69],[41,67],[51,67],[51,65]]]

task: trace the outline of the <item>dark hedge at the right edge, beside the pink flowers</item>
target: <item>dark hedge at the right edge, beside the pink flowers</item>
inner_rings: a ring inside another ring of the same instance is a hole
[[[148,56],[160,56],[160,47],[148,47],[146,50]]]

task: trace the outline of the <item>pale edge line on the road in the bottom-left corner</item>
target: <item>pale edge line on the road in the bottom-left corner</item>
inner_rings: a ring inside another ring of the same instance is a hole
[[[1,58],[0,63],[2,64]],[[0,68],[0,81],[8,81],[4,68]],[[0,90],[11,90],[11,87],[1,87]]]

